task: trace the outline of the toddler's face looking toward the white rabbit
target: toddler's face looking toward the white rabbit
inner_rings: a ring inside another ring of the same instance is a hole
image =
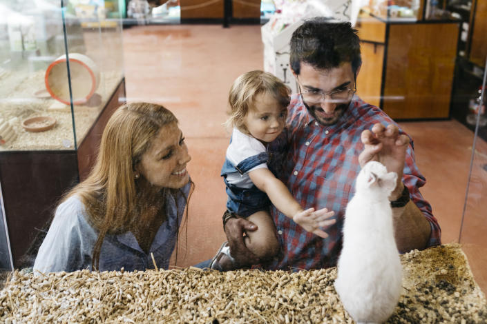
[[[245,127],[259,141],[269,143],[283,131],[287,108],[280,106],[272,94],[258,94],[254,107],[245,116]]]

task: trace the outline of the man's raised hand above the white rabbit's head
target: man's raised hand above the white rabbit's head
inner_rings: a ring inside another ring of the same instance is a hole
[[[403,169],[405,154],[409,145],[409,137],[399,134],[396,125],[388,125],[386,128],[381,123],[376,123],[372,131],[364,130],[361,134],[362,143],[365,145],[359,155],[359,163],[363,167],[369,161],[379,161],[388,172],[397,173],[396,189],[390,194],[390,200],[394,201],[403,190]]]

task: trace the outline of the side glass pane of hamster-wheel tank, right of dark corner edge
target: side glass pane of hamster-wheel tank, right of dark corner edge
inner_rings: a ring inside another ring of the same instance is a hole
[[[115,94],[123,77],[122,10],[117,1],[70,1],[66,36],[77,145]],[[66,82],[67,83],[67,82]]]

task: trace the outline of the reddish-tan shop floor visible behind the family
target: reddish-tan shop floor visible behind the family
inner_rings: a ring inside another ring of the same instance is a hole
[[[220,167],[229,134],[227,94],[239,74],[263,68],[260,26],[140,26],[124,30],[128,101],[162,103],[187,138],[196,190],[177,266],[209,259],[225,234],[225,188]],[[458,242],[466,202],[473,133],[457,121],[401,123],[415,143],[417,164],[442,228],[443,243]],[[477,141],[461,241],[477,283],[487,292],[487,144]]]

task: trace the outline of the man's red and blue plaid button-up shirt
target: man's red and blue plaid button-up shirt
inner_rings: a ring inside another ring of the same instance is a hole
[[[270,148],[275,152],[276,160],[282,163],[278,168],[280,179],[304,209],[327,207],[335,212],[336,223],[324,229],[330,236],[321,239],[271,207],[282,251],[265,267],[269,270],[334,267],[342,247],[345,207],[354,195],[354,182],[361,170],[361,133],[370,130],[374,123],[388,125],[394,121],[381,109],[356,96],[343,117],[329,126],[316,122],[298,95],[292,97],[288,109],[287,132],[283,132]],[[401,129],[399,131],[405,134]],[[279,156],[279,153],[283,155]],[[430,204],[419,192],[426,179],[414,163],[412,141],[403,172],[403,183],[408,187],[412,201],[430,222],[428,246],[439,245],[440,227],[432,215]]]

